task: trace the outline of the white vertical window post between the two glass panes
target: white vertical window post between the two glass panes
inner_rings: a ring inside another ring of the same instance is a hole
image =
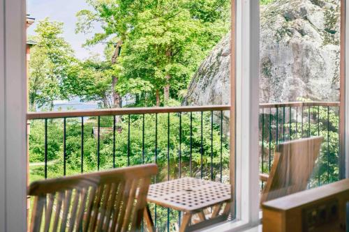
[[[235,102],[236,219],[207,231],[244,231],[260,224],[259,201],[259,0],[232,0],[232,88]],[[233,31],[235,29],[235,31]],[[235,44],[234,44],[235,43]],[[232,57],[233,58],[233,57]],[[235,72],[234,72],[235,71]],[[235,84],[233,82],[235,81]],[[233,99],[233,98],[232,98]],[[235,109],[234,109],[235,108]],[[232,117],[231,117],[232,118]],[[234,123],[234,122],[232,122]]]

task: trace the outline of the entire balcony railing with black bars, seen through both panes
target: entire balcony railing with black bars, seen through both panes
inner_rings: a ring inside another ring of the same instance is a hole
[[[29,178],[156,162],[154,183],[184,176],[229,183],[229,113],[229,106],[28,113]],[[260,172],[269,172],[277,144],[322,135],[309,187],[337,180],[338,116],[339,102],[261,104]],[[159,231],[178,229],[180,212],[151,211]]]

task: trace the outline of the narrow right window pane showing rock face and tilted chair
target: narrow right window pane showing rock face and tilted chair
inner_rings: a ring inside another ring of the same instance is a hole
[[[262,201],[339,180],[340,26],[340,1],[260,1]]]

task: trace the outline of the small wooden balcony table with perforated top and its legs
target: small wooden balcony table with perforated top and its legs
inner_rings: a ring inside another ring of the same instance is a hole
[[[149,203],[183,212],[179,231],[194,231],[223,222],[230,213],[230,185],[196,178],[179,178],[150,185]],[[149,207],[144,212],[149,231],[154,231]]]

